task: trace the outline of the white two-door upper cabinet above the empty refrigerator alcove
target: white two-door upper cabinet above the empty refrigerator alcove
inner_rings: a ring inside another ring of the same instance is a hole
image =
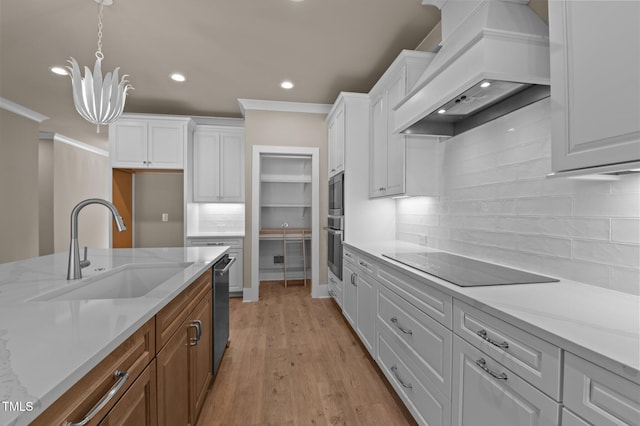
[[[188,117],[123,114],[109,124],[111,166],[183,169]]]

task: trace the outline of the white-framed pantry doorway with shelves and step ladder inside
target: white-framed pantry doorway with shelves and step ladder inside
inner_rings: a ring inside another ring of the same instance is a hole
[[[251,200],[251,288],[260,281],[306,285],[319,293],[319,149],[254,146]],[[247,291],[248,290],[248,291]]]

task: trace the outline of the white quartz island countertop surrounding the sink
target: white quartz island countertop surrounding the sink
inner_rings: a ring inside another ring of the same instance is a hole
[[[130,264],[184,264],[136,298],[30,301],[78,284],[66,280],[67,253],[0,264],[0,425],[28,424],[228,248],[89,249],[83,280]]]

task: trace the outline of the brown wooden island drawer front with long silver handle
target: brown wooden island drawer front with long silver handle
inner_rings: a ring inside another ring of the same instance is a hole
[[[155,320],[149,320],[125,340],[100,364],[49,406],[36,420],[35,426],[63,425],[79,422],[118,383],[117,392],[93,416],[89,425],[97,424],[129,389],[136,378],[155,357]],[[128,377],[117,377],[116,371],[125,371]]]

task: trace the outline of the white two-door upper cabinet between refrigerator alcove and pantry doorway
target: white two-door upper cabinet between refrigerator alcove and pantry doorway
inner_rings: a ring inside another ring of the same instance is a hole
[[[196,128],[193,138],[193,201],[244,202],[244,129]]]

